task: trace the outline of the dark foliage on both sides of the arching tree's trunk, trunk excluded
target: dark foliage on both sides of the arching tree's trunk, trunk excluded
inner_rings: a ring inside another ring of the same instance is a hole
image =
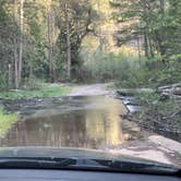
[[[63,9],[63,2],[61,4],[62,11]],[[69,17],[69,25],[70,25],[70,49],[71,49],[71,72],[72,77],[76,76],[77,68],[82,65],[82,60],[80,58],[80,51],[82,46],[83,38],[90,33],[93,29],[89,28],[93,26],[93,14],[95,14],[95,11],[90,7],[90,2],[87,0],[80,0],[74,2],[74,0],[71,0],[69,2],[68,7],[68,17]],[[64,12],[63,12],[64,13]],[[67,20],[65,15],[61,14],[59,16],[59,21],[57,22],[57,25],[59,27],[60,34],[57,39],[57,64],[56,68],[57,72],[61,69],[62,76],[64,76],[65,73],[65,67],[64,65],[64,59],[67,58],[68,45],[67,45]],[[60,71],[59,71],[60,73]]]

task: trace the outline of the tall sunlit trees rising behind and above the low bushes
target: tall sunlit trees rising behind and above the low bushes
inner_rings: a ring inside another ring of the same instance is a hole
[[[77,76],[87,35],[99,41],[97,53],[116,47],[116,32],[118,46],[134,39],[140,56],[143,49],[150,60],[176,60],[181,55],[180,9],[180,0],[1,0],[1,87],[20,88],[34,77]]]

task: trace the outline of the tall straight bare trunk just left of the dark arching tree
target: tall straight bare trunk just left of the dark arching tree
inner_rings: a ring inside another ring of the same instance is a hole
[[[55,82],[55,69],[53,69],[53,28],[52,28],[52,14],[51,14],[51,0],[48,0],[47,9],[48,17],[48,60],[49,60],[49,79],[50,82]]]

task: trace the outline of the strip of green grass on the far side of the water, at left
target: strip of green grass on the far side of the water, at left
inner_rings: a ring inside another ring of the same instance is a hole
[[[1,99],[31,99],[31,98],[48,98],[61,97],[71,92],[68,86],[45,86],[37,90],[21,90],[21,92],[3,92],[0,93]]]

